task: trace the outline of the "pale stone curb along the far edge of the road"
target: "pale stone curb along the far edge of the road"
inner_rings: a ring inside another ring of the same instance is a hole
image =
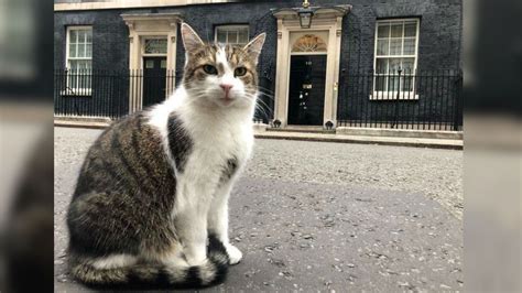
[[[66,128],[105,129],[109,127],[110,123],[55,120],[54,126],[66,127]],[[378,144],[378,145],[411,146],[411,148],[431,148],[431,149],[446,149],[446,150],[463,150],[464,149],[464,143],[461,140],[442,140],[442,139],[317,134],[317,133],[304,133],[304,132],[268,133],[265,131],[263,131],[262,133],[254,132],[254,138],[271,139],[271,140],[296,140],[296,141]]]

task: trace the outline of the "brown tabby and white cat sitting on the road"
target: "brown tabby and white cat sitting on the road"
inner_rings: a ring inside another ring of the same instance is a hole
[[[228,238],[228,198],[253,146],[265,34],[244,46],[204,43],[186,23],[181,34],[175,94],[109,127],[80,169],[68,253],[86,284],[208,286],[242,258]]]

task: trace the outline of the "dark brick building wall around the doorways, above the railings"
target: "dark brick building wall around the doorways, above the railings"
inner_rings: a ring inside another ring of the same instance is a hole
[[[249,24],[250,36],[267,32],[267,42],[260,59],[261,84],[267,91],[274,90],[276,22],[270,9],[298,7],[302,1],[239,1],[172,8],[115,9],[96,11],[55,12],[55,66],[65,62],[65,32],[67,25],[94,26],[94,69],[126,69],[129,63],[128,28],[121,13],[181,12],[204,40],[214,39],[214,28],[219,24]],[[376,21],[383,18],[421,18],[418,65],[421,70],[455,69],[460,67],[461,52],[461,0],[351,0],[312,1],[313,6],[351,4],[352,11],[345,17],[341,44],[341,77],[339,87],[347,86],[349,73],[368,72],[373,66]],[[177,42],[177,69],[183,69],[182,42]],[[339,116],[342,99],[339,97]],[[264,98],[273,105],[271,98]],[[273,107],[273,106],[272,106]]]

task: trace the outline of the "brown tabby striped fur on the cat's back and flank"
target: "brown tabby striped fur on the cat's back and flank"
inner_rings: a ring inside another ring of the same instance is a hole
[[[81,167],[69,210],[72,248],[132,254],[171,250],[176,235],[166,224],[175,184],[161,139],[143,116],[116,123],[100,135]],[[153,230],[149,223],[156,224]],[[84,229],[88,237],[75,235]]]

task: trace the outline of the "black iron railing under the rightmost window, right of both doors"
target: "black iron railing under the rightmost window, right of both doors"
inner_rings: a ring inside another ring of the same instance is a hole
[[[463,128],[460,70],[342,74],[338,126],[417,130]]]

